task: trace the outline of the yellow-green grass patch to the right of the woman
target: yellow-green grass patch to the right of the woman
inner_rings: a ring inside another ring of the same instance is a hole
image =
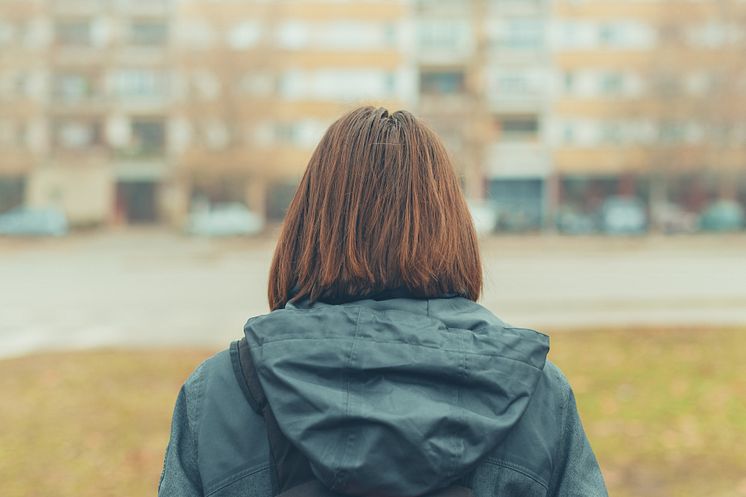
[[[555,336],[614,497],[746,495],[746,329]]]

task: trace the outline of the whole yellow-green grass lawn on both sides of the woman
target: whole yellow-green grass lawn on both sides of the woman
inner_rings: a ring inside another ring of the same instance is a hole
[[[154,495],[171,410],[207,350],[0,361],[3,497]],[[746,329],[552,337],[613,497],[746,496]]]

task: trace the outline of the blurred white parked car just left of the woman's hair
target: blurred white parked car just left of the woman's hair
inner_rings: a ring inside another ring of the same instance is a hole
[[[254,235],[264,229],[264,220],[243,204],[215,204],[193,212],[187,232],[199,236]]]

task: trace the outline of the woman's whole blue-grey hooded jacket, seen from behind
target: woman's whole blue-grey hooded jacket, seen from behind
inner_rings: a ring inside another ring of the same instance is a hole
[[[288,304],[244,328],[277,423],[341,494],[607,496],[549,339],[470,300]],[[236,343],[176,400],[160,497],[270,497]]]

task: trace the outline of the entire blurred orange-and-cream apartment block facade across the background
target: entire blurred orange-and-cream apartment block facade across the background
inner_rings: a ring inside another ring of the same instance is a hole
[[[498,229],[746,206],[741,0],[6,0],[0,212],[279,220],[326,127],[414,110]],[[678,220],[678,221],[677,221]]]

